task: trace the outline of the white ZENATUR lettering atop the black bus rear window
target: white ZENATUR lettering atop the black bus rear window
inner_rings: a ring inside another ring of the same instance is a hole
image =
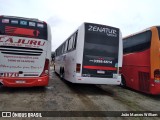
[[[117,31],[115,29],[110,29],[110,28],[107,28],[107,27],[99,27],[99,26],[89,25],[88,31],[101,32],[101,33],[103,32],[103,33],[106,33],[106,34],[117,36]]]

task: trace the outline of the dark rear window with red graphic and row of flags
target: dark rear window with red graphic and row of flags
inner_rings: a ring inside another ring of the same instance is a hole
[[[0,34],[47,40],[47,24],[28,19],[0,17]]]

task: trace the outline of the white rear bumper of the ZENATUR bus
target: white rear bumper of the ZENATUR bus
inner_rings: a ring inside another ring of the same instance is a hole
[[[75,83],[120,85],[121,76],[117,78],[77,77]]]

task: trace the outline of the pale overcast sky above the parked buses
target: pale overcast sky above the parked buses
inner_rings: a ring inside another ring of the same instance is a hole
[[[160,0],[0,0],[0,14],[46,21],[52,51],[83,22],[117,27],[122,36],[160,24]]]

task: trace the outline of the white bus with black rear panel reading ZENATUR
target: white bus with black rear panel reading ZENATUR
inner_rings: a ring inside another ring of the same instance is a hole
[[[118,28],[83,23],[55,50],[55,72],[72,83],[121,83],[122,35]]]

